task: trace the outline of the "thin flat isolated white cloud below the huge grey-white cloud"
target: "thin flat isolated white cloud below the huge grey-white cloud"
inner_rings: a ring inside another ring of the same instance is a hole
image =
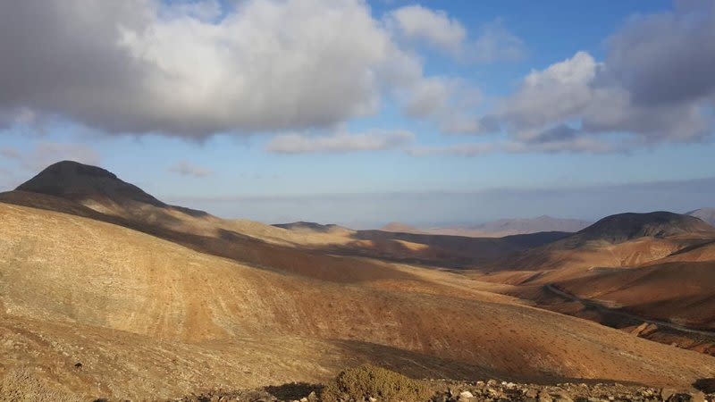
[[[275,154],[349,153],[403,147],[414,141],[409,131],[369,131],[350,134],[338,131],[328,136],[284,134],[269,142],[265,149]]]

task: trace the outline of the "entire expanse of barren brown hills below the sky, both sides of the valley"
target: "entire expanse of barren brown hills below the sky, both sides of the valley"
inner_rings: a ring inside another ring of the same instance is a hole
[[[0,366],[30,367],[2,373],[0,388],[60,379],[82,395],[164,400],[195,384],[317,383],[355,362],[416,378],[715,376],[711,356],[680,349],[715,355],[702,338],[715,333],[715,228],[694,216],[461,228],[539,231],[501,239],[276,227],[167,205],[64,161],[0,193],[0,222],[0,333],[12,342]],[[570,232],[540,231],[551,229]]]

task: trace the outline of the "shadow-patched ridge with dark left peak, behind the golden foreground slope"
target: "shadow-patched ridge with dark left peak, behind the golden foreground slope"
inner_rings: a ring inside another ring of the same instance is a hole
[[[50,165],[16,190],[0,193],[0,201],[87,216],[209,254],[283,268],[286,258],[282,256],[306,264],[340,264],[325,254],[464,268],[565,236],[553,232],[473,239],[349,230],[310,222],[270,226],[223,220],[202,211],[167,205],[112,172],[71,161]],[[362,271],[369,275],[374,270]]]

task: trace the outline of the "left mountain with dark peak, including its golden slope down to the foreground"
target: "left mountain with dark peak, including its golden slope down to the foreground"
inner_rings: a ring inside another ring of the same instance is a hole
[[[711,356],[393,260],[436,264],[528,238],[286,230],[185,214],[106,171],[55,169],[0,194],[0,387],[29,378],[83,400],[168,399],[326,381],[363,363],[469,381],[715,377]]]

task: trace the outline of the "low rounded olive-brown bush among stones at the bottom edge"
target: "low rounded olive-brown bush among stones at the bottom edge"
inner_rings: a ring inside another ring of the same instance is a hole
[[[400,373],[365,364],[345,370],[325,386],[324,402],[362,402],[376,398],[385,402],[425,402],[432,392],[420,381]]]

